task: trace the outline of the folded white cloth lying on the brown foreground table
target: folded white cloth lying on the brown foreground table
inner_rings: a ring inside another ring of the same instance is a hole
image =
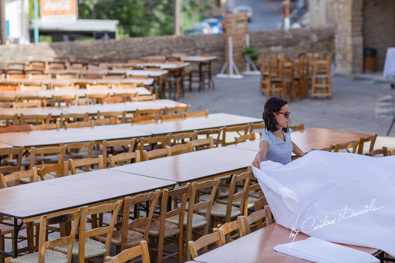
[[[371,254],[334,244],[316,237],[278,244],[273,248],[293,257],[316,263],[378,263],[380,260]]]

